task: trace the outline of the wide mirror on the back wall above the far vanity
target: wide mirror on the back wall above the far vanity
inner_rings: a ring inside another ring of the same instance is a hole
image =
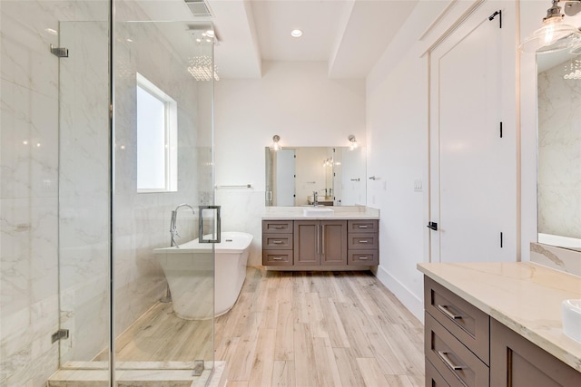
[[[267,207],[366,205],[365,149],[265,148]]]

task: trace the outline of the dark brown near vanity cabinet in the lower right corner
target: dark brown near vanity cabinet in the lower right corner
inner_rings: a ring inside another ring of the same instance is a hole
[[[579,387],[581,372],[424,276],[426,386]]]

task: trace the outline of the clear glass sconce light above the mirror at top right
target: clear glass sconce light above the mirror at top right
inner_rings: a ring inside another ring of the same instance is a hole
[[[581,44],[581,32],[571,24],[563,22],[565,15],[561,14],[560,0],[552,0],[553,5],[547,9],[547,17],[543,18],[543,25],[534,33],[528,35],[518,51],[521,53],[555,53],[561,50],[578,50]],[[581,12],[581,0],[565,2],[565,13],[574,16]]]

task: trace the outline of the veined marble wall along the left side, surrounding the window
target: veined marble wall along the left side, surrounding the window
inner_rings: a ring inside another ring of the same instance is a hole
[[[0,2],[2,387],[45,385],[59,366],[59,344],[51,343],[59,317],[71,330],[61,342],[63,361],[89,360],[107,342],[108,11],[106,0]],[[152,249],[169,244],[171,209],[213,200],[212,135],[204,134],[207,124],[197,129],[202,119],[210,121],[198,114],[198,85],[183,55],[153,24],[118,27],[117,333],[164,292]],[[178,29],[183,32],[183,25]],[[50,44],[67,46],[69,58],[58,59]],[[135,193],[135,71],[178,102],[178,192]],[[211,101],[203,101],[204,111],[208,105]],[[197,237],[196,220],[180,214],[182,240]]]

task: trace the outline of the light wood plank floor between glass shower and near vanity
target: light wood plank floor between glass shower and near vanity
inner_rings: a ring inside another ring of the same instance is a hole
[[[423,326],[369,272],[249,267],[216,319],[229,387],[423,386]]]

